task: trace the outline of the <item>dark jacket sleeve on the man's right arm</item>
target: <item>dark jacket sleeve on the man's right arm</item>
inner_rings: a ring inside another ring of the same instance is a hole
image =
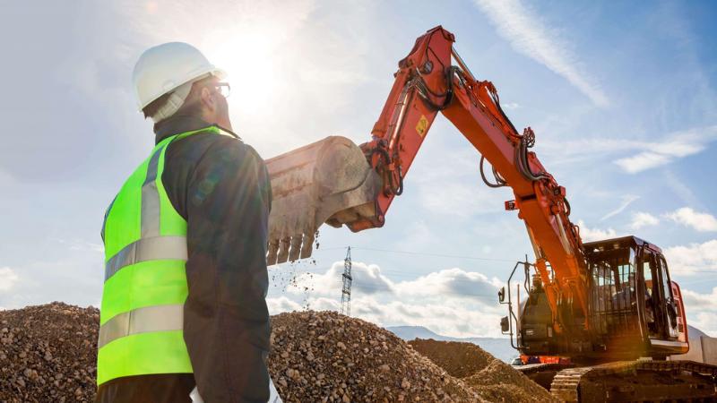
[[[216,138],[188,174],[185,341],[203,400],[266,402],[271,184],[241,141]]]

